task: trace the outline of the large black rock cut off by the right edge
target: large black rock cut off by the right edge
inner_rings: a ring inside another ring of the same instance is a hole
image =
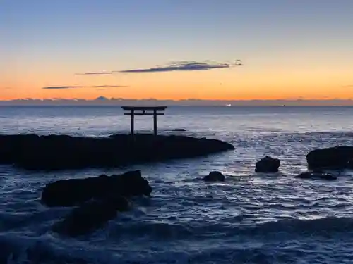
[[[306,155],[309,169],[352,168],[353,146],[335,146],[326,149],[315,149]]]

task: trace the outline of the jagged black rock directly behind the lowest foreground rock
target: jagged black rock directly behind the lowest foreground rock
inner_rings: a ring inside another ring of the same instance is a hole
[[[140,170],[122,175],[100,175],[84,179],[59,180],[47,184],[41,201],[47,206],[75,206],[90,199],[106,199],[109,196],[150,196],[152,187]]]

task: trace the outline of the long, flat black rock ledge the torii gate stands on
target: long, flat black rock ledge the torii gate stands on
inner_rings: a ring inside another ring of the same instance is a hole
[[[217,139],[152,134],[116,134],[108,138],[0,135],[0,146],[0,164],[14,164],[27,170],[113,168],[234,149]]]

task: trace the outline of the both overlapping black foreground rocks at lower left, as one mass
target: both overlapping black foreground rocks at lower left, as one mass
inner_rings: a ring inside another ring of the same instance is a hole
[[[88,234],[132,207],[131,197],[150,196],[152,187],[140,170],[121,175],[101,175],[59,180],[47,184],[41,202],[49,207],[76,206],[52,230],[70,237]]]

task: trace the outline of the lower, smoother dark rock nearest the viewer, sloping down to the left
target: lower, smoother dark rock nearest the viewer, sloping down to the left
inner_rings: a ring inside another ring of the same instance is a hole
[[[118,211],[124,212],[129,208],[129,201],[122,196],[88,201],[77,208],[73,208],[64,220],[56,222],[52,230],[70,237],[87,234],[116,218]]]

